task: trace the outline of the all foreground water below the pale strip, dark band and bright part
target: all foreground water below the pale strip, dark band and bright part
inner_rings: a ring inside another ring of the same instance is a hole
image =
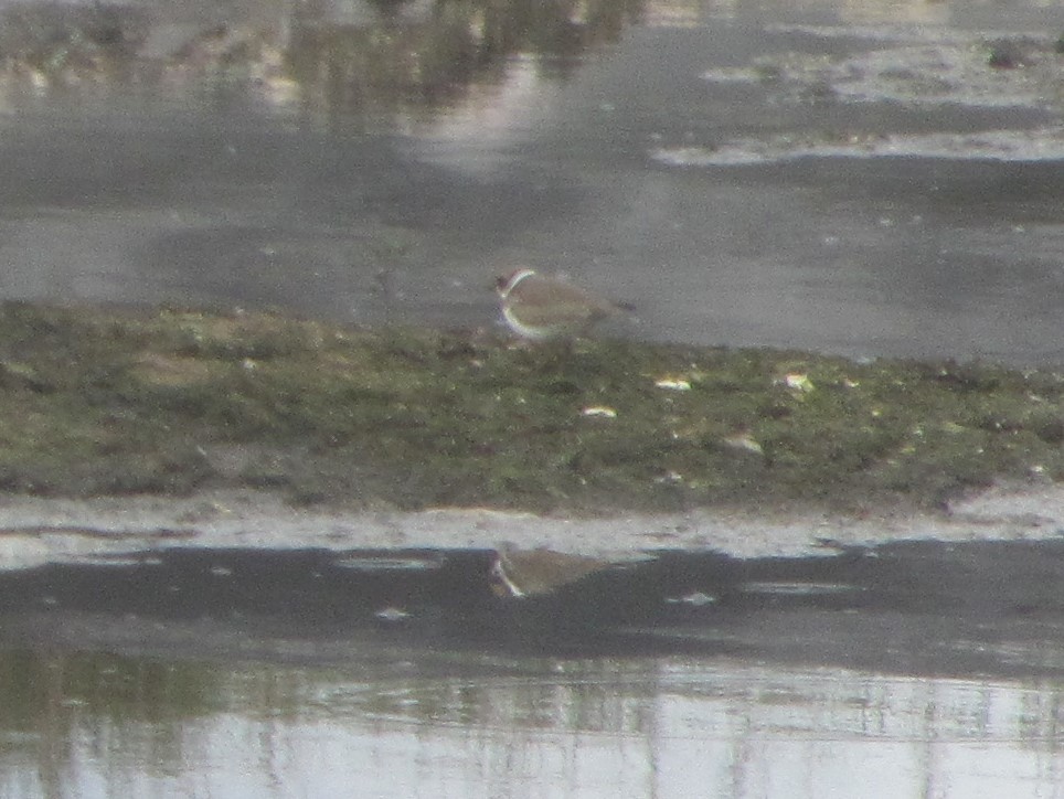
[[[524,599],[485,551],[9,572],[0,795],[1054,796],[1062,554],[660,552]]]

